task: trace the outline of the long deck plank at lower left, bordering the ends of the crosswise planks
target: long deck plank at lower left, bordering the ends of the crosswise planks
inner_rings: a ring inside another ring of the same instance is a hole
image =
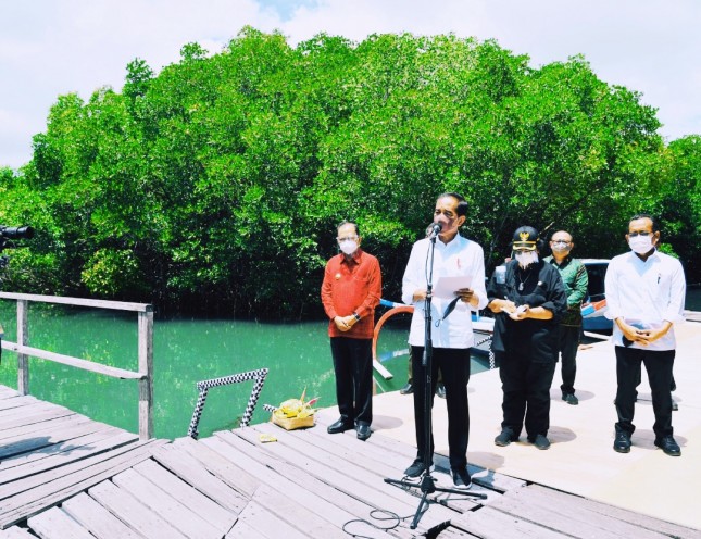
[[[64,466],[63,468],[70,468],[70,472],[62,469],[60,477],[54,477],[46,485],[38,485],[3,502],[0,505],[0,528],[8,528],[23,518],[67,500],[86,488],[138,464],[163,443],[164,440],[132,443],[110,452],[109,455],[97,455]]]

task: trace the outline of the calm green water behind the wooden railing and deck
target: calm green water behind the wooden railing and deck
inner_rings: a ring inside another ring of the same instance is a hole
[[[400,318],[399,315],[392,318]],[[30,304],[29,346],[130,371],[137,371],[137,315],[104,310]],[[405,319],[404,319],[405,322]],[[0,301],[5,338],[16,342],[16,308]],[[393,391],[406,381],[406,325],[383,327],[377,355],[395,377],[377,374],[376,391]],[[391,356],[391,358],[390,358]],[[154,431],[159,438],[185,436],[197,402],[198,380],[267,367],[253,423],[270,418],[262,405],[320,397],[335,405],[334,369],[326,322],[262,324],[222,319],[154,322]],[[473,373],[484,368],[473,364]],[[3,350],[0,384],[16,388],[16,354]],[[200,436],[238,426],[252,381],[213,388],[199,425]],[[103,375],[29,359],[29,392],[93,419],[138,431],[138,386]],[[409,399],[409,398],[408,398]]]

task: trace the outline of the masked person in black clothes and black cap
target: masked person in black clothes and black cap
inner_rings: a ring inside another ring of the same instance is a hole
[[[558,270],[538,260],[538,242],[535,228],[517,228],[515,260],[497,267],[487,287],[488,306],[497,313],[492,350],[504,394],[495,443],[502,447],[516,441],[525,424],[529,442],[550,448],[550,386],[567,293]]]

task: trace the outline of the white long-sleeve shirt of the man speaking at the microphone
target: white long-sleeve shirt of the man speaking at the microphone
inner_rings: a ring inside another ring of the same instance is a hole
[[[428,252],[430,240],[422,239],[414,243],[404,278],[402,280],[402,301],[414,305],[409,343],[415,347],[425,344],[424,300],[413,301],[416,290],[425,290],[428,276]],[[436,327],[451,299],[433,297],[431,300],[431,343],[434,348],[470,348],[474,344],[472,311],[487,306],[485,289],[485,254],[481,247],[472,240],[456,235],[448,245],[436,240],[434,251],[434,288],[441,277],[468,276],[470,288],[479,299],[477,308],[458,300],[453,312]]]

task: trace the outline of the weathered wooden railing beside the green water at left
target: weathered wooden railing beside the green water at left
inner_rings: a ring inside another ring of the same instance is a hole
[[[60,296],[35,296],[29,293],[0,292],[0,299],[17,302],[17,342],[2,340],[2,348],[17,354],[17,391],[29,394],[29,358],[39,358],[93,373],[139,383],[139,438],[153,437],[153,306],[148,303],[63,298]],[[138,314],[138,371],[127,371],[93,363],[80,358],[63,355],[29,347],[29,302],[59,303],[64,305],[135,311]]]

